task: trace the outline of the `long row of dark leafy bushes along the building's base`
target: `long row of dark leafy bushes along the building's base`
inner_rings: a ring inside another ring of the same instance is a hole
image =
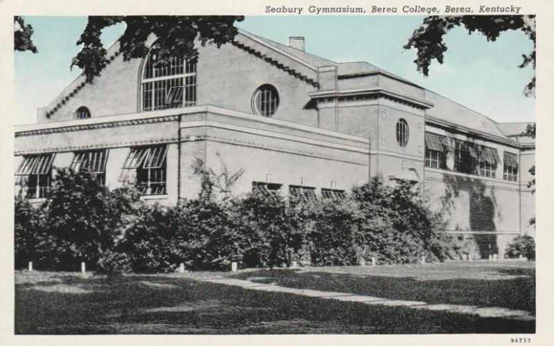
[[[204,184],[209,185],[209,184]],[[343,201],[295,201],[248,194],[217,199],[204,191],[177,206],[149,206],[127,186],[102,187],[87,172],[60,170],[39,208],[15,203],[15,265],[43,270],[167,272],[412,263],[458,258],[440,217],[409,183],[379,179]]]

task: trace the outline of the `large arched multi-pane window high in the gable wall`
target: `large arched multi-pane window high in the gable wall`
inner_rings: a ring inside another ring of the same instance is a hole
[[[143,111],[179,108],[196,104],[196,63],[172,58],[156,66],[157,55],[149,54],[141,80]]]

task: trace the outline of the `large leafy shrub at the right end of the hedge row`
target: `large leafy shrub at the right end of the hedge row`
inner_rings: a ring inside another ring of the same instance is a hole
[[[364,214],[366,247],[379,262],[413,263],[456,257],[456,240],[445,233],[440,215],[421,199],[413,183],[384,185],[375,177],[352,190],[352,198]]]

